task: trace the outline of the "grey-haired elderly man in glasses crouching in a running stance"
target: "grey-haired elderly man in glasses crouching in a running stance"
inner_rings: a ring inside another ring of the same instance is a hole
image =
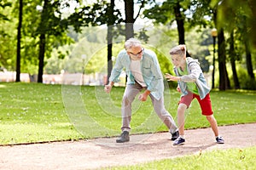
[[[160,117],[160,120],[166,124],[169,132],[172,134],[172,140],[178,138],[176,123],[172,116],[166,111],[164,105],[164,83],[160,71],[160,65],[156,54],[149,49],[145,49],[142,43],[135,38],[125,42],[125,49],[121,50],[109,77],[108,85],[105,85],[105,91],[110,93],[114,82],[119,82],[121,71],[125,68],[128,76],[125,88],[125,94],[122,101],[122,133],[117,143],[124,143],[130,140],[131,130],[131,103],[137,94],[143,89],[143,94],[138,96],[141,101],[146,101],[148,95],[154,106],[154,111]]]

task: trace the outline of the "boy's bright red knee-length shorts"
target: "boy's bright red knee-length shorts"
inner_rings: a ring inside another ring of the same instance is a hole
[[[204,99],[200,99],[199,95],[193,94],[193,93],[189,92],[189,90],[187,90],[187,91],[188,91],[188,94],[183,96],[180,99],[180,101],[178,102],[178,104],[185,104],[189,108],[189,105],[191,104],[192,100],[196,98],[201,106],[201,114],[202,115],[210,116],[213,114],[210,94],[207,94]]]

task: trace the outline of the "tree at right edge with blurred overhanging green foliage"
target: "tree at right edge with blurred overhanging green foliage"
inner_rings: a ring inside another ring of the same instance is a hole
[[[254,6],[253,6],[254,4]],[[247,74],[251,78],[252,84],[255,84],[255,77],[253,74],[253,62],[252,62],[252,47],[256,45],[255,32],[253,28],[256,28],[255,16],[255,1],[236,1],[236,4],[230,0],[223,1],[219,5],[218,13],[221,17],[218,18],[219,26],[229,28],[230,31],[236,29],[236,37],[244,44],[246,52],[246,64]],[[254,22],[253,22],[254,21]],[[254,36],[253,36],[254,35]],[[231,38],[232,38],[231,34]],[[234,70],[233,70],[234,71]],[[236,73],[233,72],[233,75]]]

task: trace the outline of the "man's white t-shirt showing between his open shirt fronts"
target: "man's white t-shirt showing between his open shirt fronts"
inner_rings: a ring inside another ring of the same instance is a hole
[[[141,71],[141,60],[131,59],[130,69],[136,82],[138,82],[142,87],[147,87],[146,83],[144,82],[143,74]]]

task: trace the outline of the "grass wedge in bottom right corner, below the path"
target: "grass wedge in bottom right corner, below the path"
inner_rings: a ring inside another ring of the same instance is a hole
[[[193,156],[182,156],[161,161],[152,161],[135,166],[109,167],[106,169],[175,169],[175,170],[253,170],[256,167],[256,146],[245,149],[213,150]]]

